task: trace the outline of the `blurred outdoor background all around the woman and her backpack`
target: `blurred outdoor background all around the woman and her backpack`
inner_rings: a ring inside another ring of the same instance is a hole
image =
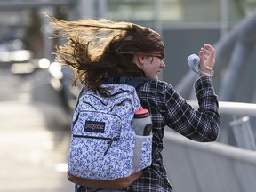
[[[66,159],[79,90],[54,62],[64,40],[52,38],[43,12],[155,29],[166,48],[161,79],[195,108],[187,58],[212,44],[220,137],[198,144],[166,132],[165,166],[177,192],[255,190],[256,0],[0,0],[0,191],[73,191]]]

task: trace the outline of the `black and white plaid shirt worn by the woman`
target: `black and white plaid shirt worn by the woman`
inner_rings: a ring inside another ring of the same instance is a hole
[[[161,152],[164,127],[168,126],[188,139],[200,142],[216,140],[219,127],[219,105],[210,77],[196,81],[195,92],[199,103],[196,110],[188,105],[172,85],[163,81],[149,81],[138,92],[141,105],[148,108],[153,122],[153,159],[150,167],[128,188],[130,192],[168,192],[172,186],[167,179]],[[172,161],[172,159],[171,159]],[[174,172],[175,174],[175,172]],[[94,192],[97,189],[81,188]]]

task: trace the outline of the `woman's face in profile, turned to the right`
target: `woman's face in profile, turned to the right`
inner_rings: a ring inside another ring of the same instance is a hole
[[[141,58],[140,68],[144,71],[146,77],[152,80],[158,80],[159,73],[163,68],[165,68],[165,64],[161,57],[145,56]]]

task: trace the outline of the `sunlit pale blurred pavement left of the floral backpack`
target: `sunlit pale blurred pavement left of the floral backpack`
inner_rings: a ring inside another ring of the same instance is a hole
[[[68,130],[49,129],[47,105],[42,110],[29,100],[26,88],[20,88],[29,82],[0,75],[0,191],[74,191],[66,176]]]

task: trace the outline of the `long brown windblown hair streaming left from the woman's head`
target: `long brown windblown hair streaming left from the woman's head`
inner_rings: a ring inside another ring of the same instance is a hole
[[[162,37],[156,31],[129,22],[111,20],[58,20],[47,15],[57,37],[66,44],[57,47],[56,60],[75,70],[77,82],[94,92],[108,94],[100,84],[112,76],[145,76],[132,62],[136,53],[164,58]]]

